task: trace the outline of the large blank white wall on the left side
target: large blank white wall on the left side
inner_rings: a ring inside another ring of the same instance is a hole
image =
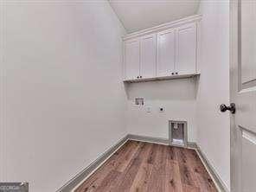
[[[14,2],[1,4],[1,181],[52,192],[126,134],[125,30],[107,1]]]

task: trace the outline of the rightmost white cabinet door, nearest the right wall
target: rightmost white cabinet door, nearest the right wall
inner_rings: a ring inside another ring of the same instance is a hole
[[[176,72],[195,74],[196,69],[196,24],[188,24],[177,29]]]

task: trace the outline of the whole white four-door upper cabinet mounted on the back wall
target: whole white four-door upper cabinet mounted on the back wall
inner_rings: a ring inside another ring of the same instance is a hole
[[[124,37],[125,81],[165,80],[197,75],[198,23],[189,16]]]

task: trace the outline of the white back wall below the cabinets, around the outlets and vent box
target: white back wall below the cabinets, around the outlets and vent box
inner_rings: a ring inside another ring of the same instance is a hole
[[[163,80],[132,83],[126,86],[128,110],[127,131],[154,138],[169,138],[169,120],[188,121],[189,141],[195,141],[195,80]],[[145,107],[134,106],[134,99],[143,97]],[[150,106],[151,112],[147,112]],[[165,112],[159,112],[164,107]]]

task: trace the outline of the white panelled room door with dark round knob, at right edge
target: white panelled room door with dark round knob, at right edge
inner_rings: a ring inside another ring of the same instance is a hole
[[[256,1],[230,1],[231,191],[256,191]]]

